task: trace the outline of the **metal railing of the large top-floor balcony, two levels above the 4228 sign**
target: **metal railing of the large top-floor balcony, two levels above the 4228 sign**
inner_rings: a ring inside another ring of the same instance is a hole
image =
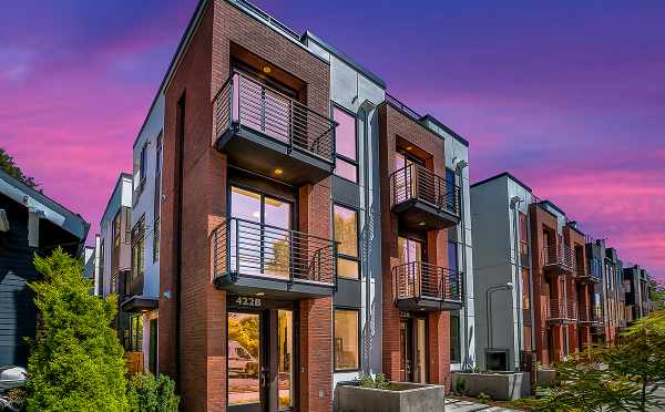
[[[298,150],[335,162],[337,123],[303,103],[234,72],[214,100],[215,141],[232,126],[260,132]]]

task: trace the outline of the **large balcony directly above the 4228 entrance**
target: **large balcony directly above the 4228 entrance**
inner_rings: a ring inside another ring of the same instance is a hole
[[[229,218],[211,241],[213,281],[219,289],[277,299],[331,296],[336,290],[335,240]]]

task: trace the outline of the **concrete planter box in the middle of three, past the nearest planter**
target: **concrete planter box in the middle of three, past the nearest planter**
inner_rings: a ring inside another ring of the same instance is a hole
[[[531,377],[525,372],[505,373],[453,373],[453,388],[461,379],[466,383],[466,394],[478,396],[488,394],[495,401],[514,401],[531,394]]]

